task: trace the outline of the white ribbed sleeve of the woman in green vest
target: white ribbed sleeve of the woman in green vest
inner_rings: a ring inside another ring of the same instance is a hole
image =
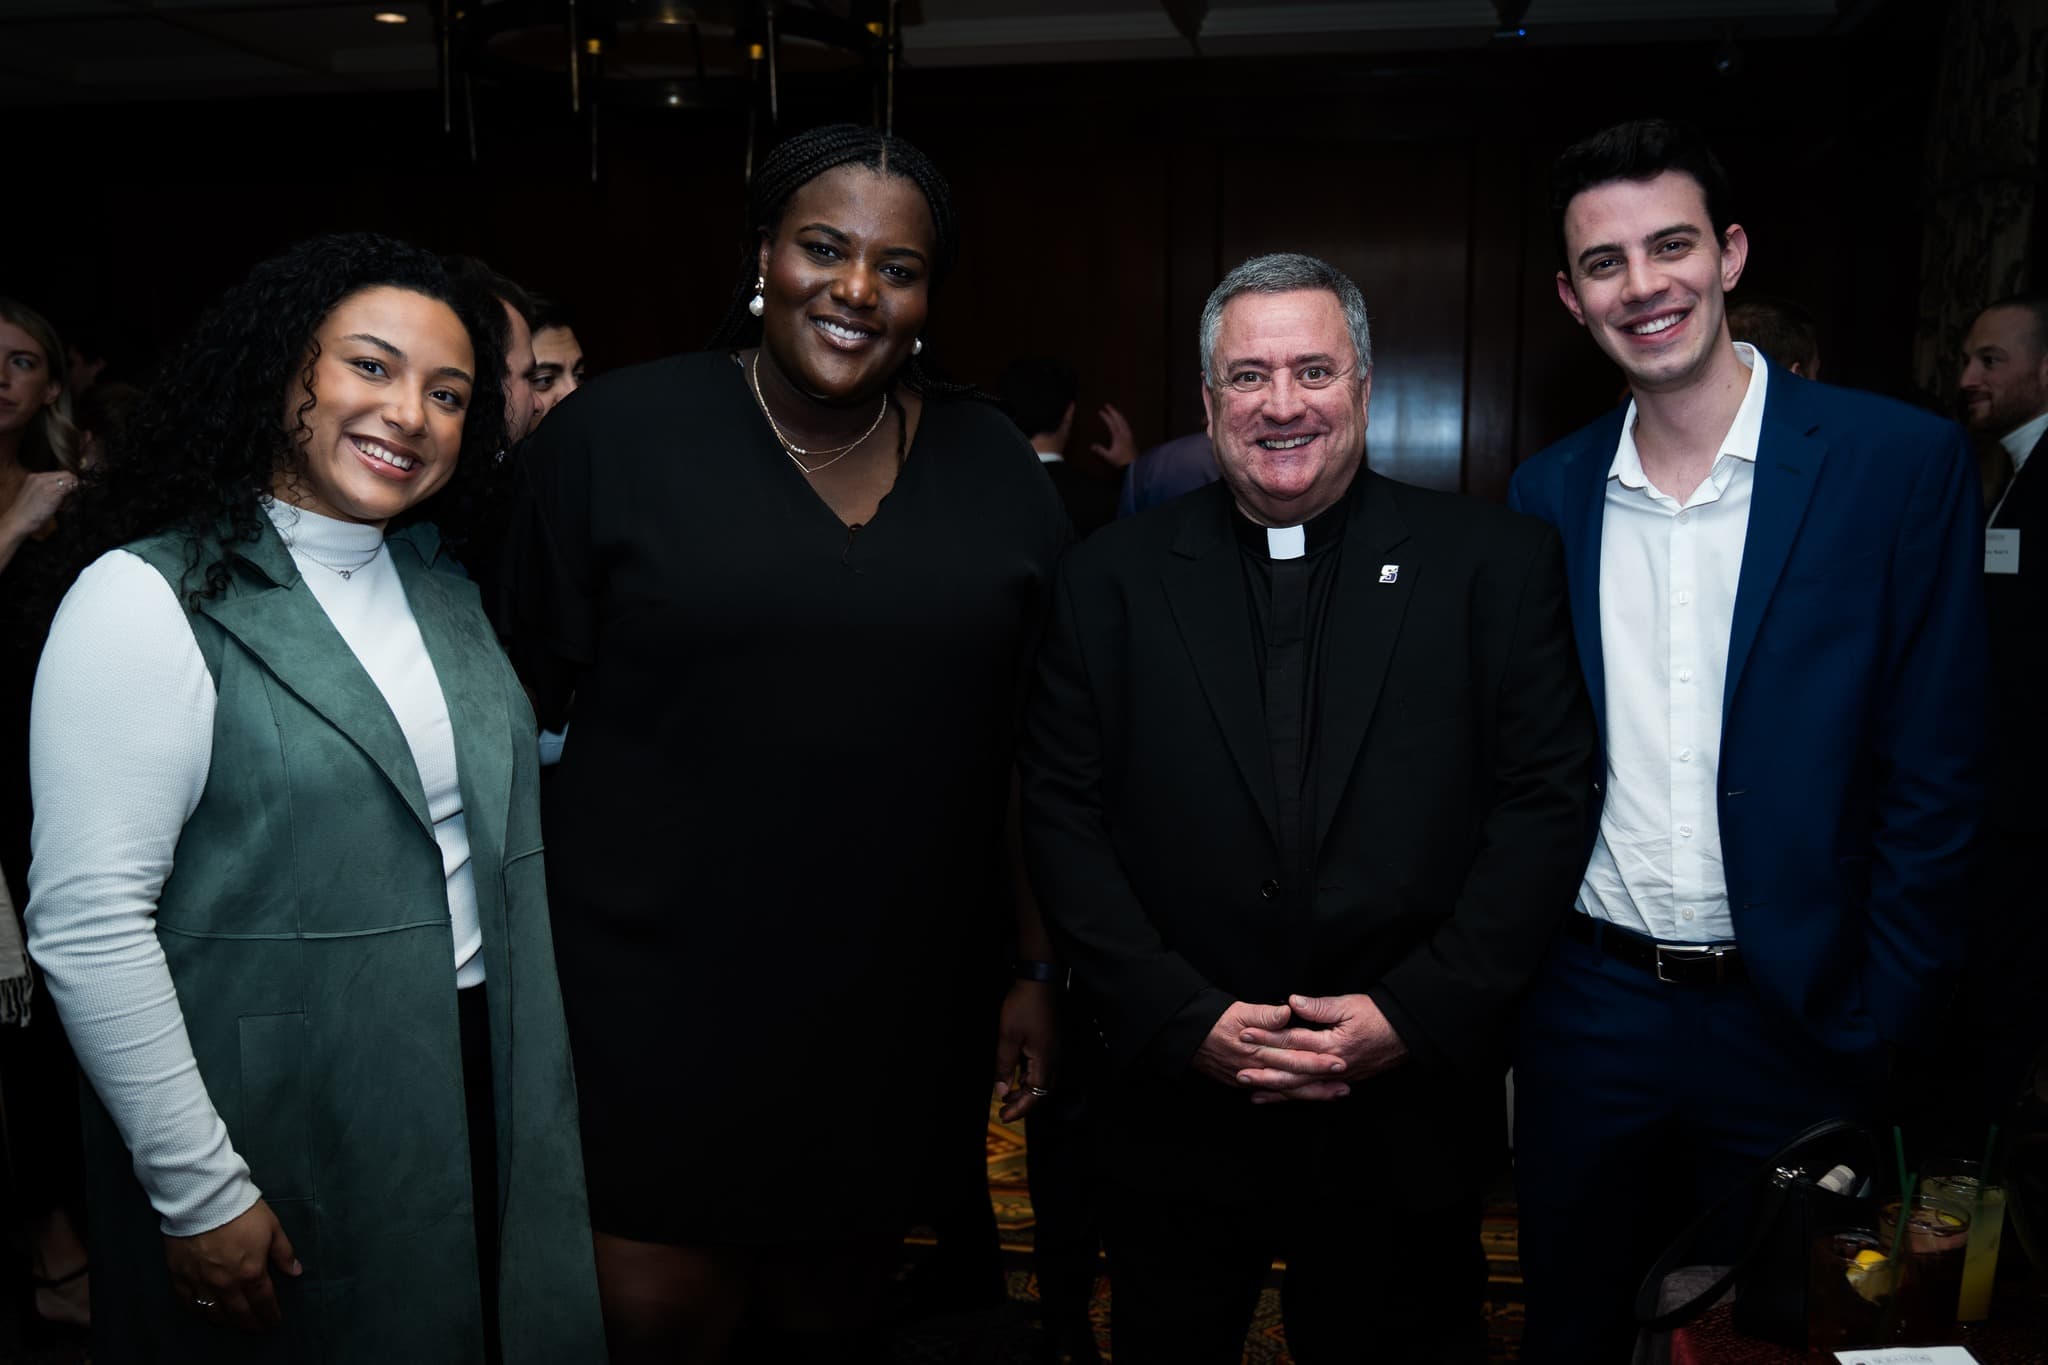
[[[227,1140],[156,941],[213,761],[213,677],[170,583],[115,551],[57,610],[35,673],[29,952],[170,1236],[260,1197]]]

